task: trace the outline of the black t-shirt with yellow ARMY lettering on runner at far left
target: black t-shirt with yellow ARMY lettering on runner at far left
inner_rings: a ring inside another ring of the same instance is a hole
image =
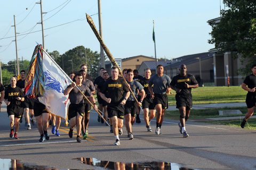
[[[10,101],[10,105],[21,105],[21,101],[17,100],[17,97],[24,97],[23,91],[19,87],[12,88],[8,86],[4,92],[4,98]]]

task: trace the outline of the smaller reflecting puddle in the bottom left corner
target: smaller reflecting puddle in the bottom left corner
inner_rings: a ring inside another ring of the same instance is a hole
[[[20,163],[20,160],[16,159],[0,159],[0,169],[1,170],[58,170],[55,168],[50,168],[46,166],[37,166]]]

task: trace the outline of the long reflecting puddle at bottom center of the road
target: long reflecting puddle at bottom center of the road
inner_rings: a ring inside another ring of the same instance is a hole
[[[115,170],[193,170],[189,168],[181,167],[179,164],[174,163],[165,163],[165,162],[141,162],[141,163],[121,163],[121,162],[109,162],[98,160],[96,158],[75,158],[75,160],[81,161],[81,163],[91,166],[98,166],[107,169],[115,169]]]

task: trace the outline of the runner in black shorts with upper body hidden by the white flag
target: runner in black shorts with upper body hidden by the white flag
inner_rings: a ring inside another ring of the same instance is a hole
[[[38,98],[34,101],[34,115],[36,118],[37,129],[40,133],[39,142],[50,140],[47,128],[49,126],[51,114],[46,110],[45,105],[39,102]]]

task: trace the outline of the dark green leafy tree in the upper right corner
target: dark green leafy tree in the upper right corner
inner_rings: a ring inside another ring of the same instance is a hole
[[[234,57],[241,55],[241,62],[246,61],[243,75],[251,73],[251,65],[256,63],[256,1],[223,0],[227,10],[221,11],[218,24],[210,23],[212,38],[210,44],[220,52],[232,52]]]

